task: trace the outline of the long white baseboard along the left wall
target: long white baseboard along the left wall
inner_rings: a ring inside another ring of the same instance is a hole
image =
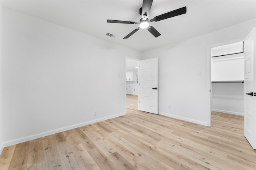
[[[78,128],[78,127],[90,125],[92,123],[97,123],[97,122],[104,121],[104,120],[107,120],[107,119],[112,119],[112,118],[119,117],[119,116],[122,116],[122,115],[125,115],[125,114],[126,113],[120,113],[120,114],[117,114],[117,115],[112,115],[112,116],[108,116],[108,117],[102,117],[100,119],[95,119],[95,120],[87,121],[87,122],[84,122],[84,123],[78,123],[76,125],[62,127],[62,128],[59,128],[59,129],[54,129],[52,131],[47,131],[47,132],[38,133],[38,134],[35,134],[35,135],[30,135],[30,136],[27,136],[27,137],[22,137],[22,138],[14,139],[12,141],[7,141],[7,142],[4,142],[2,144],[2,147],[0,148],[1,149],[0,151],[2,152],[2,149],[4,149],[4,147],[8,147],[8,146],[11,146],[11,145],[16,145],[18,143],[30,141],[30,140],[37,139],[37,138],[40,138],[40,137],[45,137],[45,136],[52,135],[52,134],[55,134],[55,133],[60,133],[60,132],[63,132],[63,131],[68,131],[70,129],[75,129],[75,128]]]

